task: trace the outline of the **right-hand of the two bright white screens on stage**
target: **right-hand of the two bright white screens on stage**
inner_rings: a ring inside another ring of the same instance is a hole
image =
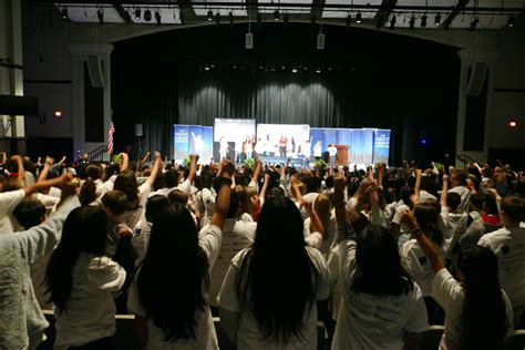
[[[261,157],[309,157],[311,154],[310,125],[258,124],[255,152]]]

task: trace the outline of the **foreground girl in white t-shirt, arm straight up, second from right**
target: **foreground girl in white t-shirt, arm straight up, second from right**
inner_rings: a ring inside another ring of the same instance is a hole
[[[426,310],[419,286],[401,266],[395,239],[378,225],[356,233],[344,209],[342,174],[334,185],[343,301],[332,350],[418,348]]]

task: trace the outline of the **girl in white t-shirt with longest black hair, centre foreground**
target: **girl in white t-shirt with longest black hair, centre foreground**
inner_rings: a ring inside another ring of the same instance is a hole
[[[238,349],[317,349],[316,301],[328,287],[325,258],[305,246],[299,209],[268,196],[254,245],[234,257],[217,297],[220,322]]]

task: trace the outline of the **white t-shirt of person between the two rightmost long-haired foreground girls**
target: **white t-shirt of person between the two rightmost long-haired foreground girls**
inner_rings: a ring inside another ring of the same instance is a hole
[[[440,253],[443,257],[444,254],[441,249]],[[405,241],[400,249],[400,255],[404,269],[420,286],[423,297],[431,297],[434,270],[418,240]]]

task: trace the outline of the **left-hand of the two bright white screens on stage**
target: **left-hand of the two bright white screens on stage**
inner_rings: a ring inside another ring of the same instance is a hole
[[[215,119],[214,159],[236,163],[254,156],[255,120]]]

